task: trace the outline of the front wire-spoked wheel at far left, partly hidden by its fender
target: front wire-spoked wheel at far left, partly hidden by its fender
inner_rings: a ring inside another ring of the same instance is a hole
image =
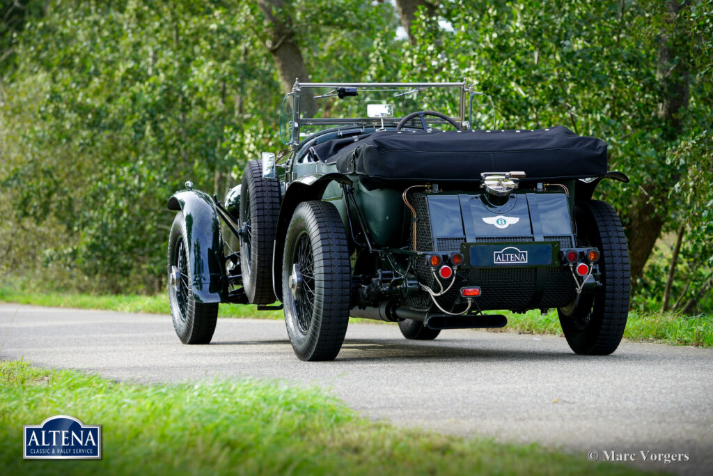
[[[168,237],[168,301],[173,328],[184,344],[207,344],[213,337],[218,317],[217,303],[197,303],[190,283],[193,270],[188,265],[188,233],[183,213],[177,213]],[[173,268],[175,286],[172,283]]]

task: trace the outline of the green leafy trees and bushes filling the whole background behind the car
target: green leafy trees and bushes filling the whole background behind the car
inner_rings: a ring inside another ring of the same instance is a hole
[[[0,66],[0,273],[38,288],[159,292],[168,196],[188,179],[222,196],[245,161],[281,147],[285,91],[265,17],[255,1],[19,4],[0,29],[0,49],[13,50]],[[312,79],[466,78],[494,104],[474,97],[475,127],[563,124],[605,139],[610,168],[632,181],[604,181],[597,198],[630,233],[642,197],[665,233],[687,223],[673,301],[712,310],[695,294],[713,270],[709,187],[695,184],[713,182],[713,0],[687,1],[673,22],[654,0],[453,0],[425,12],[414,46],[396,39],[386,1],[290,0],[279,15]],[[679,132],[659,113],[662,34],[689,75]],[[667,253],[655,250],[635,308],[660,307]]]

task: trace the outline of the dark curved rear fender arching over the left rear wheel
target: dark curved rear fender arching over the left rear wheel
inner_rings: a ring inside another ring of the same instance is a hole
[[[321,200],[324,190],[332,181],[352,184],[352,181],[342,173],[315,173],[290,182],[289,186],[287,186],[287,191],[284,192],[282,206],[279,209],[277,218],[275,246],[272,248],[272,289],[275,290],[275,296],[280,301],[282,301],[282,250],[284,250],[284,237],[287,234],[287,227],[289,227],[289,222],[292,221],[292,213],[294,213],[299,203],[309,200]]]

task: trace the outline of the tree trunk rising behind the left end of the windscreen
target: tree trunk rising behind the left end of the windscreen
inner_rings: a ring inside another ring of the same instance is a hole
[[[265,46],[275,59],[285,92],[292,91],[295,79],[309,81],[304,58],[294,41],[292,17],[284,9],[284,0],[258,0],[257,5],[270,22],[270,36]],[[299,96],[299,108],[303,116],[312,117],[317,111],[317,102],[309,93],[303,93]]]

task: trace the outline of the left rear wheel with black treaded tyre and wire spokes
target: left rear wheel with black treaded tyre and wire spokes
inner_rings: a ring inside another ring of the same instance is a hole
[[[351,286],[347,233],[337,208],[322,201],[300,203],[282,260],[284,320],[300,360],[337,357],[349,323]]]

